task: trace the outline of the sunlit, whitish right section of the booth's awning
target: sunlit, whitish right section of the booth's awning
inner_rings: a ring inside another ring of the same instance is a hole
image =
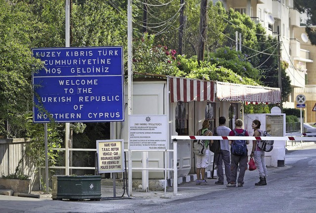
[[[218,101],[236,101],[263,104],[278,104],[281,101],[279,88],[216,82]]]

